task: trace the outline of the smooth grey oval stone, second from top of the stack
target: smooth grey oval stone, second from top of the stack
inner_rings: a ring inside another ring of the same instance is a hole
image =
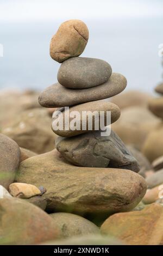
[[[104,60],[76,57],[61,64],[57,78],[67,88],[85,89],[107,82],[111,73],[111,66]]]

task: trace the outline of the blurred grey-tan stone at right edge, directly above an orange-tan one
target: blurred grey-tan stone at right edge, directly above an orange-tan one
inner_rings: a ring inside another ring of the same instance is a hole
[[[146,178],[148,188],[153,188],[163,183],[163,169]]]

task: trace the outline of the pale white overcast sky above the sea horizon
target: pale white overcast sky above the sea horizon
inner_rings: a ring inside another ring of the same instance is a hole
[[[0,21],[162,17],[162,0],[0,0]]]

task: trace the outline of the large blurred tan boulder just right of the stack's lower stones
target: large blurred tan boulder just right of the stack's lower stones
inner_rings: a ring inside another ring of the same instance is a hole
[[[121,117],[115,124],[111,125],[124,144],[134,145],[141,150],[148,133],[160,123],[160,119],[155,117],[147,108],[133,106],[124,108]]]

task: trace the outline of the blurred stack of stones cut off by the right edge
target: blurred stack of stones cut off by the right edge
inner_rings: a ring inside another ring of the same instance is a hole
[[[149,133],[142,149],[143,154],[151,162],[163,155],[163,83],[156,86],[155,92],[159,93],[161,97],[154,97],[149,100],[148,108],[156,117],[161,118],[161,121]]]

